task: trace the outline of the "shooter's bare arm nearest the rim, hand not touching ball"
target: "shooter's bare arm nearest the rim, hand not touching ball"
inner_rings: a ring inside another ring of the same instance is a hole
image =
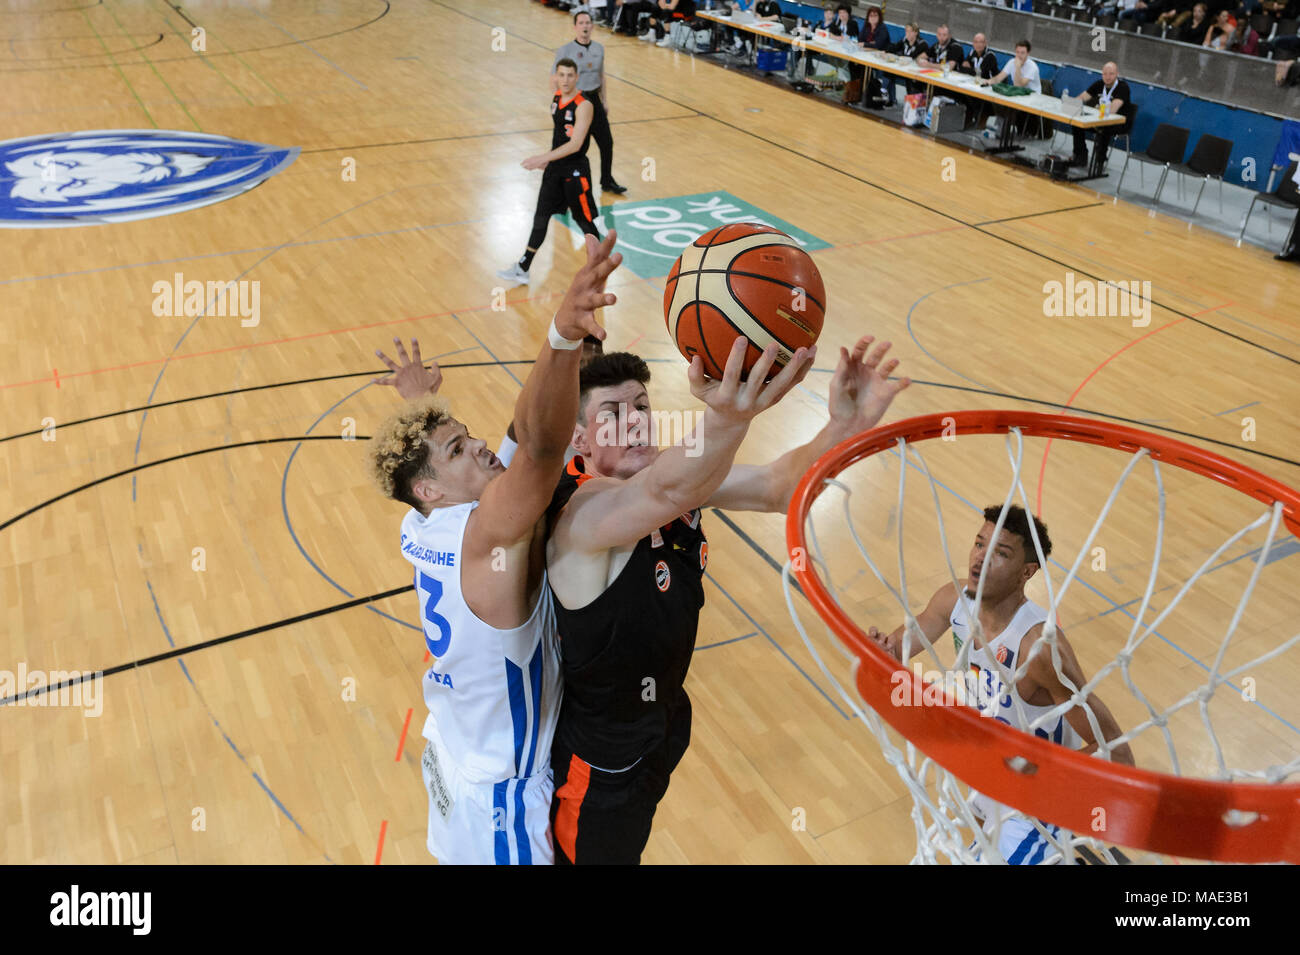
[[[871,335],[863,335],[850,353],[840,348],[840,364],[831,378],[827,407],[831,421],[806,444],[777,457],[771,464],[737,464],[708,499],[711,507],[731,511],[770,511],[785,513],[800,478],[822,455],[842,440],[870,431],[894,396],[906,388],[910,378],[889,379],[898,366],[897,359],[885,360],[889,342],[868,353]]]

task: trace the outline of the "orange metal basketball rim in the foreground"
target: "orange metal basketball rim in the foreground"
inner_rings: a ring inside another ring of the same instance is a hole
[[[1056,438],[1126,452],[1212,478],[1268,505],[1300,537],[1300,492],[1210,451],[1122,425],[1066,414],[966,411],[906,418],[855,435],[828,451],[800,482],[786,516],[792,554],[809,554],[805,526],[824,482],[871,455],[953,434]],[[794,548],[802,548],[796,551]],[[1088,832],[1096,807],[1108,816],[1108,841],[1121,846],[1219,861],[1300,863],[1300,783],[1193,780],[1084,755],[1000,722],[971,707],[896,707],[898,661],[872,643],[827,590],[815,561],[793,576],[814,609],[857,655],[857,686],[871,708],[916,748],[980,793],[1075,832]],[[802,568],[802,569],[800,569]],[[914,693],[907,668],[904,687]],[[894,683],[890,680],[894,680]]]

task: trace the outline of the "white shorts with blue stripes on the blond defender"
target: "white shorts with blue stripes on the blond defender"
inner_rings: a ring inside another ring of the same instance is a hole
[[[429,794],[428,846],[439,865],[554,864],[549,768],[526,778],[467,782],[426,741],[420,769]]]

